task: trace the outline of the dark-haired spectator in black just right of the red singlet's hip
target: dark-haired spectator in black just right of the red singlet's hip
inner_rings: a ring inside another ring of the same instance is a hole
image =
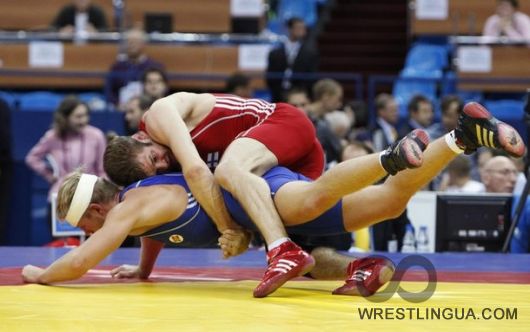
[[[342,106],[342,86],[335,80],[323,79],[313,86],[314,101],[307,107],[308,115],[313,121],[317,137],[324,148],[326,163],[329,166],[340,161],[342,143],[324,119],[327,113]]]

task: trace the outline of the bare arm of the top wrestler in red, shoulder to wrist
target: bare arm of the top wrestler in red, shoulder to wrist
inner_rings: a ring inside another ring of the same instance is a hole
[[[182,167],[191,192],[213,219],[219,232],[238,229],[224,204],[219,185],[206,163],[201,159],[185,120],[200,103],[201,95],[175,93],[157,100],[146,114],[149,136],[170,147]]]

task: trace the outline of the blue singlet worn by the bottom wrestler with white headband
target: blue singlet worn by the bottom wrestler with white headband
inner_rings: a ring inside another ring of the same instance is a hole
[[[267,181],[273,197],[280,187],[288,182],[311,181],[301,174],[294,173],[285,167],[279,166],[265,173],[263,178]],[[184,180],[184,176],[180,173],[156,175],[138,181],[120,193],[120,201],[128,190],[153,185],[178,185],[184,187],[188,192],[188,206],[183,215],[176,220],[155,227],[140,236],[147,236],[170,246],[198,248],[217,245],[220,234],[215,224],[197,203]],[[257,227],[234,197],[225,190],[222,190],[222,193],[228,212],[232,215],[234,221],[246,229],[257,231]],[[346,230],[344,229],[342,220],[342,201],[339,201],[315,220],[302,225],[286,227],[286,230],[289,234],[298,235],[333,235],[345,233]]]

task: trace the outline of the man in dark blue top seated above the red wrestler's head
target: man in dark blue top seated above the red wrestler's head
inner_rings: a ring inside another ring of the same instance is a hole
[[[144,53],[146,35],[143,30],[129,30],[125,39],[126,54],[120,54],[110,68],[106,87],[108,101],[118,108],[123,108],[130,98],[142,92],[140,80],[147,69],[164,71],[161,63]]]

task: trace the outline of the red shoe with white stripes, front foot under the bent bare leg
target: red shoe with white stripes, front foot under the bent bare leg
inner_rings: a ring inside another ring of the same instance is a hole
[[[288,280],[309,273],[315,266],[315,259],[292,241],[287,241],[267,253],[269,266],[254,297],[265,297]]]

